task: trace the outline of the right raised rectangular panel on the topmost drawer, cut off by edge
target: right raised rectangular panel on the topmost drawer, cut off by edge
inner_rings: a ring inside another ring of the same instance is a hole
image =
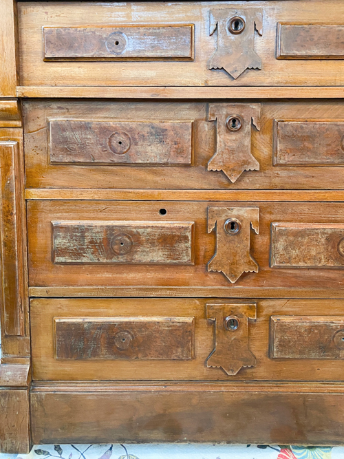
[[[277,58],[344,59],[344,25],[277,25]]]

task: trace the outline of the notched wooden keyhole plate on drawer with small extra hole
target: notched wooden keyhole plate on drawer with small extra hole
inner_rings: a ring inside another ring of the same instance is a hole
[[[258,207],[208,207],[208,233],[216,229],[216,252],[208,271],[224,273],[232,283],[243,273],[258,273],[250,255],[250,226],[259,233]]]

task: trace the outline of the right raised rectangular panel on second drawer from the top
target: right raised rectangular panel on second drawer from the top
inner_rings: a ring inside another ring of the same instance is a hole
[[[344,164],[344,121],[275,120],[275,166]]]

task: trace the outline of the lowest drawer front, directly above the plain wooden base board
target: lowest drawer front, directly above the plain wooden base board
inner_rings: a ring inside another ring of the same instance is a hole
[[[343,381],[343,304],[32,299],[33,375],[42,381]]]

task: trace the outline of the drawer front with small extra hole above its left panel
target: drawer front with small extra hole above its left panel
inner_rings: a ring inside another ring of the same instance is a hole
[[[344,285],[344,206],[30,200],[28,248],[35,287],[330,292]]]

